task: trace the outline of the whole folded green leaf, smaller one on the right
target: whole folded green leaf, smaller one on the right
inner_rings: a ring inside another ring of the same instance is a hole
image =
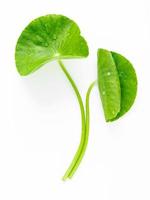
[[[106,121],[124,115],[137,93],[137,77],[132,64],[118,53],[99,49],[98,87]]]

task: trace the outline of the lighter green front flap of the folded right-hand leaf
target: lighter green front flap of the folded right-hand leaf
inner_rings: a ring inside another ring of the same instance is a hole
[[[114,119],[120,111],[120,81],[111,52],[98,50],[98,86],[106,121]]]

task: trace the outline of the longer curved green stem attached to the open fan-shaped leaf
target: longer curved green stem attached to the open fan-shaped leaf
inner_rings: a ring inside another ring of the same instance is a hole
[[[80,106],[81,121],[82,121],[80,144],[79,144],[78,150],[77,150],[77,152],[76,152],[76,154],[75,154],[75,156],[74,156],[69,168],[67,169],[65,175],[63,176],[63,180],[66,180],[69,177],[70,172],[74,168],[74,166],[75,166],[75,164],[76,164],[76,162],[78,160],[78,157],[80,156],[80,153],[82,151],[82,147],[84,145],[84,141],[85,141],[85,111],[84,111],[84,105],[83,105],[83,101],[82,101],[81,95],[79,93],[79,90],[78,90],[74,80],[71,78],[70,74],[66,70],[66,68],[65,68],[64,64],[62,63],[62,61],[58,60],[58,63],[60,65],[61,69],[63,70],[63,72],[65,73],[66,77],[68,78],[69,82],[71,83],[72,88],[74,89],[74,92],[75,92],[75,94],[77,96],[78,103],[79,103],[79,106]]]

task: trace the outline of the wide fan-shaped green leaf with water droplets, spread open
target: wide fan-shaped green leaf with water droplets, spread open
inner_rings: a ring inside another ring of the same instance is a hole
[[[88,56],[88,46],[77,24],[62,15],[47,15],[32,21],[21,33],[15,52],[21,75],[58,59]]]

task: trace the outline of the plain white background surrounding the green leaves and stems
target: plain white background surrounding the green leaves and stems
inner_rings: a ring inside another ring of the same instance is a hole
[[[132,109],[106,123],[91,95],[91,130],[83,162],[63,182],[80,140],[80,111],[66,77],[52,62],[28,77],[15,68],[24,27],[41,15],[75,20],[88,41],[87,59],[64,63],[83,98],[96,78],[97,48],[126,56],[138,76]],[[148,0],[0,1],[0,199],[150,199],[150,5]]]

